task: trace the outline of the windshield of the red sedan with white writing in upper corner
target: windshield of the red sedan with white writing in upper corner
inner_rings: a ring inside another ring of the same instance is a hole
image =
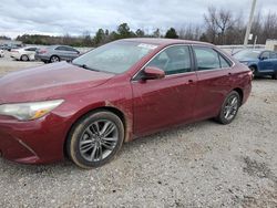
[[[75,59],[72,63],[88,70],[117,74],[127,71],[155,48],[157,45],[132,41],[116,41],[96,48]]]

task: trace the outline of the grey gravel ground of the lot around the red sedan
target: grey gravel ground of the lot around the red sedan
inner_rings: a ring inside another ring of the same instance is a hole
[[[0,59],[0,74],[37,64]],[[277,81],[259,79],[232,124],[134,141],[98,169],[0,159],[0,207],[277,207],[276,149]]]

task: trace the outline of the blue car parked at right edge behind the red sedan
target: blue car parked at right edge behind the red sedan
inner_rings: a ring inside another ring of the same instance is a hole
[[[242,50],[233,55],[246,64],[254,76],[270,75],[277,79],[277,52],[268,50]]]

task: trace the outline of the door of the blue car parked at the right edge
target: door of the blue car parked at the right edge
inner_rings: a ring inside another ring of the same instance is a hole
[[[274,71],[274,60],[270,58],[269,51],[264,51],[259,56],[258,62],[259,73],[273,73]]]

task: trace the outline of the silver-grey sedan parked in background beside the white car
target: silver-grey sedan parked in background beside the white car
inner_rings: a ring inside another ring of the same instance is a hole
[[[72,61],[79,55],[80,52],[72,46],[52,45],[37,50],[34,58],[44,63],[54,63],[60,61]]]

